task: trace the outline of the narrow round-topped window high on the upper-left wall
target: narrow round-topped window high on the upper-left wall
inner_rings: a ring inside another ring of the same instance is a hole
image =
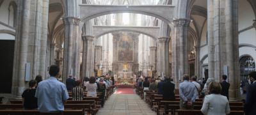
[[[14,1],[9,4],[8,7],[8,25],[15,27],[16,26],[16,12],[17,12],[17,5]]]

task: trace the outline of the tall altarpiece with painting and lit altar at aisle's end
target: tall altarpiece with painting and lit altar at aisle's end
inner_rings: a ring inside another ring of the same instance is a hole
[[[138,72],[138,33],[113,34],[112,70],[116,84],[134,85]]]

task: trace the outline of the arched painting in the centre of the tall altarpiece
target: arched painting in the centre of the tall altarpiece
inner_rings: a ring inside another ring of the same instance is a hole
[[[118,61],[133,61],[133,40],[127,33],[118,41]]]

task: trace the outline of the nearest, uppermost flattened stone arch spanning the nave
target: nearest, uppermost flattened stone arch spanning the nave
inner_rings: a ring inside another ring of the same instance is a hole
[[[90,10],[93,8],[94,10]],[[97,8],[98,11],[95,11]],[[111,5],[80,5],[81,22],[111,13],[140,13],[163,20],[172,25],[174,6],[111,6]]]

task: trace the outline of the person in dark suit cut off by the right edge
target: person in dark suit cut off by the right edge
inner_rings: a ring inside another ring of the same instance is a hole
[[[250,85],[246,91],[244,111],[246,115],[256,114],[256,72],[249,74]]]

